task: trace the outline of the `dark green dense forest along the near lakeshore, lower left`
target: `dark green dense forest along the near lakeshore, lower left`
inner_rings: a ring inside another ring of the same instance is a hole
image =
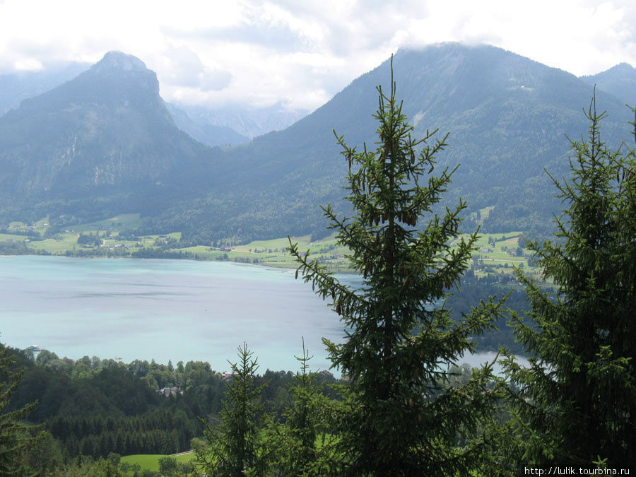
[[[208,363],[158,364],[135,360],[122,363],[84,356],[59,358],[55,353],[4,348],[22,369],[6,411],[29,403],[37,406],[25,418],[38,424],[44,437],[25,456],[32,471],[63,469],[78,457],[106,458],[109,454],[175,454],[192,449],[204,433],[202,417],[218,421],[229,377]],[[293,372],[266,370],[257,382],[268,383],[262,393],[264,413],[281,416]],[[326,395],[336,382],[320,375]],[[24,430],[26,432],[26,430]]]

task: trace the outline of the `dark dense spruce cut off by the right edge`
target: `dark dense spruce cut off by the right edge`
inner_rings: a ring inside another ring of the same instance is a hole
[[[636,466],[636,154],[601,141],[595,98],[586,117],[572,177],[553,178],[567,205],[555,240],[530,245],[555,293],[517,272],[537,325],[516,319],[531,366],[507,363],[521,465]]]

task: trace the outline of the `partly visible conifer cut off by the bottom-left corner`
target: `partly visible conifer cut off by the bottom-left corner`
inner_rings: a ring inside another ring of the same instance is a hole
[[[7,348],[0,344],[0,475],[25,473],[25,455],[44,435],[31,437],[18,420],[33,411],[36,403],[28,404],[16,411],[6,412],[11,394],[16,390],[24,370],[12,372],[15,360],[8,355]]]

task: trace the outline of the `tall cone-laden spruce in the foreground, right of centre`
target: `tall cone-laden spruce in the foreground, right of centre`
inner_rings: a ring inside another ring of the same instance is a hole
[[[326,341],[334,367],[350,380],[339,436],[347,472],[468,475],[488,456],[483,442],[459,445],[459,437],[490,418],[497,393],[488,389],[490,367],[459,386],[445,384],[447,369],[471,351],[472,335],[493,327],[501,304],[482,303],[455,323],[440,301],[459,285],[477,235],[458,232],[463,201],[435,213],[453,172],[432,175],[447,136],[432,142],[437,131],[427,131],[411,138],[392,76],[391,60],[390,95],[377,88],[377,149],[365,145],[358,152],[336,134],[349,167],[353,216],[323,208],[339,245],[351,250],[362,287],[339,283],[291,241],[290,250],[300,263],[297,276],[301,271],[319,295],[331,298],[350,330],[342,344]]]

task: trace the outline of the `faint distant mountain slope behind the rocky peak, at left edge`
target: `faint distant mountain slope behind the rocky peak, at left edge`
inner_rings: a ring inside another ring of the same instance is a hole
[[[90,65],[68,63],[52,65],[42,71],[18,71],[0,75],[0,116],[20,105],[20,102],[45,93],[75,78]]]

